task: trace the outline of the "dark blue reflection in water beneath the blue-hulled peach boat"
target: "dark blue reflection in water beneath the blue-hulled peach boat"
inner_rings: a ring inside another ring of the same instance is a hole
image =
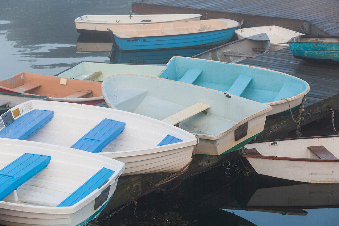
[[[166,64],[173,56],[192,57],[207,49],[177,49],[158,51],[122,52],[114,46],[110,54],[111,63]]]

